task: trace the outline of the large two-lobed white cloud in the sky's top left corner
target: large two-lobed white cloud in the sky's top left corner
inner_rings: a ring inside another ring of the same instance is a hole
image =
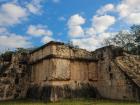
[[[22,2],[22,5],[20,5]],[[42,13],[44,0],[11,0],[0,5],[0,26],[11,26],[27,20],[28,16]]]

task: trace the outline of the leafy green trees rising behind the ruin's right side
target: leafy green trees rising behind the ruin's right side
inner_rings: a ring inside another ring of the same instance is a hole
[[[140,55],[140,25],[133,25],[129,30],[120,31],[115,36],[105,39],[104,45],[115,45],[130,54]]]

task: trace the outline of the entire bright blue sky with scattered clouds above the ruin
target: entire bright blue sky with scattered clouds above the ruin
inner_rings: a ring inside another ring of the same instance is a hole
[[[0,50],[37,47],[51,40],[87,50],[133,24],[140,0],[1,0]]]

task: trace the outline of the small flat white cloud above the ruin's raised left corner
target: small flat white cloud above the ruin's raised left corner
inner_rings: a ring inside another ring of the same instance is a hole
[[[42,25],[30,25],[27,30],[27,34],[32,36],[51,36],[52,31],[48,30],[46,26]]]

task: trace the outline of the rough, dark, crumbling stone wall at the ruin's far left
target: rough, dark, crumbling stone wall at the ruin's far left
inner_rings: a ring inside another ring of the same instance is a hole
[[[29,84],[27,58],[27,55],[15,54],[11,61],[1,61],[0,100],[25,98]]]

